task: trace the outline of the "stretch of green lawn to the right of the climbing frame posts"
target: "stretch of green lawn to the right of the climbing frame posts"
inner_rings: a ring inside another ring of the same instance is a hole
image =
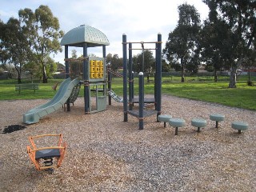
[[[246,82],[238,82],[235,89],[227,88],[226,82],[163,84],[162,93],[206,102],[217,102],[225,106],[256,110],[256,102],[254,100],[256,87],[247,86]]]

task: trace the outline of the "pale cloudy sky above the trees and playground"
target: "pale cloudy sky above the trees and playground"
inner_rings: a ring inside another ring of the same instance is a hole
[[[170,30],[177,25],[178,6],[183,2],[194,5],[202,20],[207,17],[208,7],[201,0],[1,0],[0,18],[7,22],[10,17],[18,18],[20,9],[35,10],[46,5],[58,18],[65,33],[82,24],[93,26],[110,41],[106,54],[118,54],[122,58],[122,34],[127,35],[128,42],[152,42],[161,33],[163,48]],[[80,56],[82,48],[76,50]],[[102,49],[89,48],[88,54],[102,57]],[[64,63],[64,51],[54,55],[54,60]]]

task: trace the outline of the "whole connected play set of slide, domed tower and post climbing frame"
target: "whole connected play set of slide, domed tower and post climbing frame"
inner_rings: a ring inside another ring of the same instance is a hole
[[[59,109],[60,106],[64,110],[70,111],[70,103],[73,103],[78,97],[81,82],[75,78],[72,83],[70,80],[70,62],[82,62],[82,82],[84,85],[84,105],[85,114],[95,113],[106,110],[106,94],[109,94],[109,105],[111,105],[111,98],[117,102],[123,103],[124,122],[128,121],[128,114],[133,115],[139,119],[139,129],[143,129],[143,119],[153,114],[161,114],[161,87],[162,87],[162,35],[158,34],[157,42],[126,42],[126,35],[122,37],[123,46],[123,98],[111,90],[111,71],[106,69],[106,46],[110,45],[106,35],[100,30],[91,26],[78,26],[73,30],[68,31],[62,38],[61,45],[65,46],[65,66],[66,66],[66,80],[62,82],[60,89],[54,98],[42,106],[35,107],[23,115],[23,122],[32,124],[38,122],[43,116],[50,114]],[[132,44],[141,44],[142,49],[133,49]],[[127,45],[129,44],[129,67],[127,69]],[[146,49],[144,44],[154,44],[154,49]],[[68,47],[82,47],[82,58],[69,58]],[[102,46],[102,58],[88,57],[87,49],[89,47]],[[144,58],[144,50],[155,50],[156,64],[154,74],[154,98],[144,98],[144,59],[142,59],[142,72],[139,74],[139,97],[134,98],[134,76],[132,71],[132,50],[142,50]],[[79,66],[80,68],[80,66]],[[107,72],[107,75],[106,75]],[[127,109],[127,72],[129,74],[129,110]],[[106,81],[106,77],[108,81]],[[69,79],[69,80],[67,80]],[[107,83],[108,82],[108,83]],[[108,88],[106,87],[108,86]],[[62,97],[63,96],[63,97]],[[95,98],[95,103],[92,102]],[[134,103],[139,103],[139,110],[133,110]],[[154,103],[155,110],[143,110],[144,103]],[[158,121],[158,118],[156,118]]]

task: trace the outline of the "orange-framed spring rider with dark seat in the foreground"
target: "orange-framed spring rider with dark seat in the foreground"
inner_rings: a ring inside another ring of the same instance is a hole
[[[42,142],[36,143],[39,138],[58,138],[57,145],[40,146]],[[51,170],[61,166],[66,153],[66,142],[63,142],[62,134],[42,134],[29,138],[30,145],[27,146],[27,153],[37,170]]]

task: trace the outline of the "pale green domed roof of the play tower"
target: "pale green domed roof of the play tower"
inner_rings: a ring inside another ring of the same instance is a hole
[[[92,26],[78,26],[73,30],[68,31],[62,38],[62,46],[79,46],[87,43],[87,47],[94,46],[109,46],[110,42],[102,31],[97,30]]]

